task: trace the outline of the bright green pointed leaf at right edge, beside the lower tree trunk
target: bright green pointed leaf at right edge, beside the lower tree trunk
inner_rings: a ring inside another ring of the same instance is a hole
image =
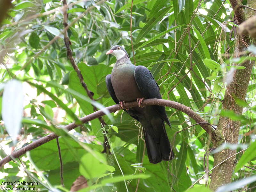
[[[239,169],[241,169],[246,163],[251,161],[256,156],[255,148],[256,148],[256,141],[254,141],[250,145],[250,147],[248,149],[246,149],[244,154],[241,156],[241,158],[239,159],[239,161],[236,165],[235,172],[237,172]]]

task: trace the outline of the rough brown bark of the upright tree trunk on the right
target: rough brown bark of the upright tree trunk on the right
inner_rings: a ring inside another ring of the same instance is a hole
[[[247,3],[252,5],[251,2],[253,1],[254,0],[248,0]],[[235,12],[235,22],[237,24],[241,24],[246,18],[244,8],[240,6],[241,3],[239,0],[230,0],[230,3]],[[249,37],[239,36],[236,34],[236,47],[234,55],[236,57],[242,56],[240,52],[244,52],[250,44],[251,41]],[[236,99],[245,101],[245,95],[250,81],[253,65],[253,61],[246,61],[242,64],[245,69],[239,69],[235,71],[233,80],[231,84],[227,86],[224,100],[222,100],[222,110],[232,110],[237,115],[242,114],[243,107],[236,103]],[[228,117],[220,116],[217,129],[222,132],[225,142],[234,144],[237,143],[240,129],[239,121],[233,121]],[[220,145],[221,143],[213,143],[214,148],[217,148]],[[234,155],[235,153],[236,151],[234,150],[225,149],[220,153],[214,154],[214,166],[224,161],[228,157]],[[231,182],[234,169],[234,160],[235,156],[220,164],[213,170],[210,184],[210,189],[212,191],[215,191],[218,187]]]

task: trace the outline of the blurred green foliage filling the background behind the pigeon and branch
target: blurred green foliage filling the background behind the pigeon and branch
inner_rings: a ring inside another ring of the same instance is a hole
[[[103,0],[96,4],[93,0],[68,0],[67,3],[73,3],[68,7],[68,24],[73,22],[68,28],[70,48],[97,102],[103,106],[114,104],[107,92],[105,77],[111,73],[116,59],[106,52],[113,45],[123,45],[132,62],[152,72],[163,99],[190,107],[213,125],[218,124],[220,113],[241,121],[239,144],[231,147],[240,150],[254,144],[255,68],[246,95],[247,103],[241,101],[243,115],[220,110],[225,87],[234,73],[232,64],[255,60],[253,57],[233,58],[236,24],[229,1],[134,0],[135,58],[130,37],[131,1]],[[67,60],[62,6],[59,0],[13,0],[2,21],[0,100],[4,100],[4,84],[13,78],[22,82],[25,95],[22,128],[15,149],[93,112],[92,102]],[[254,46],[249,49],[256,53]],[[237,70],[242,68],[236,67]],[[172,128],[166,127],[166,130],[176,154],[176,159],[169,163],[149,164],[139,122],[118,111],[112,114],[114,121],[103,117],[105,127],[95,119],[69,133],[61,133],[65,187],[61,187],[55,140],[30,151],[20,161],[5,164],[0,170],[1,182],[37,181],[38,191],[69,191],[78,176],[83,175],[86,178],[83,191],[185,191],[205,171],[212,169],[211,144],[199,125],[176,133],[195,121],[173,108],[166,108],[166,111],[172,124]],[[3,108],[2,114],[5,112]],[[16,121],[15,114],[10,113],[9,118]],[[14,150],[3,120],[0,132],[3,158]],[[104,134],[111,148],[108,154],[101,154]],[[252,154],[252,158],[244,157],[242,166],[234,173],[234,181],[255,174],[255,169],[243,167],[256,165],[255,151],[252,150]],[[120,177],[122,174],[125,181]],[[209,179],[204,177],[192,191],[209,191],[202,187],[205,183],[207,186]],[[239,191],[254,191],[255,186],[256,182],[252,182]]]

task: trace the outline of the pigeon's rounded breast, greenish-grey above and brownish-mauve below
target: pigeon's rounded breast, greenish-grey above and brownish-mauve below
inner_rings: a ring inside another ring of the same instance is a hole
[[[134,101],[143,97],[134,78],[136,66],[122,64],[114,67],[111,73],[111,82],[119,101]]]

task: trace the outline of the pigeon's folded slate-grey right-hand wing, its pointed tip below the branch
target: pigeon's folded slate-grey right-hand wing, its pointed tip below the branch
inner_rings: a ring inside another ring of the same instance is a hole
[[[159,87],[148,68],[137,66],[134,71],[134,78],[145,99],[162,99]],[[154,108],[162,116],[163,120],[171,126],[164,106],[154,106]]]

